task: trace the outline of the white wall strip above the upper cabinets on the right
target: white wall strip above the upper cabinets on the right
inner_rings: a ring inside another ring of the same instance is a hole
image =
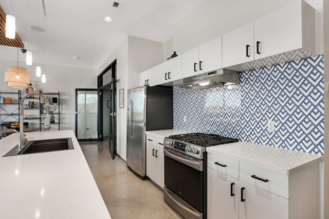
[[[173,49],[181,54],[295,1],[206,0],[174,25]],[[322,0],[306,2],[321,9]]]

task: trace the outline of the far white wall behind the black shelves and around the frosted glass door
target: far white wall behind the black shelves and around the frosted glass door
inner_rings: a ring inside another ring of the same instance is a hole
[[[5,71],[8,66],[17,66],[16,61],[0,60],[0,90],[17,92],[18,89],[8,87],[4,81]],[[96,69],[86,69],[59,65],[45,64],[46,83],[41,83],[41,78],[35,76],[35,66],[27,66],[20,62],[19,66],[27,68],[30,81],[36,82],[36,89],[43,92],[60,92],[61,104],[61,130],[75,130],[75,99],[76,88],[97,88]],[[25,94],[22,92],[22,94]]]

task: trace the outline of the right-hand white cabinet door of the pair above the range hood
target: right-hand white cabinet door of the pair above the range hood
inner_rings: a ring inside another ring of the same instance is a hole
[[[199,74],[222,68],[222,36],[199,46]]]

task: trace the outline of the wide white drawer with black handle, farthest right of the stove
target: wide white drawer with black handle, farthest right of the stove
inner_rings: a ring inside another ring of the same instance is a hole
[[[240,162],[240,180],[271,193],[289,198],[288,176]]]

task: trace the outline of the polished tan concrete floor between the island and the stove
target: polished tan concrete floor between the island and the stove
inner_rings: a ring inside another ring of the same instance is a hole
[[[113,219],[182,218],[153,182],[138,178],[118,157],[112,160],[106,141],[80,145]]]

